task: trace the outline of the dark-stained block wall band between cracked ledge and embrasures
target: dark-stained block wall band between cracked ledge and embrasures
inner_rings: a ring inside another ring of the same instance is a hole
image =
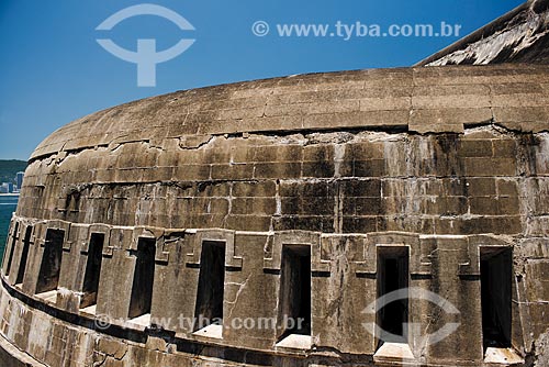
[[[113,175],[127,169],[108,181],[81,182],[74,176],[91,160],[86,153],[55,166],[32,163],[18,215],[173,229],[540,235],[546,201],[525,192],[547,186],[548,144],[546,133],[489,125],[438,135],[216,136],[198,149],[154,149],[154,159],[138,164],[149,168],[135,168],[123,165],[124,159],[150,149],[128,143],[115,153],[88,153],[116,162],[107,170]],[[158,166],[164,155],[173,157],[171,167]],[[189,165],[203,174],[186,175]],[[163,177],[165,170],[180,174]],[[155,181],[132,177],[139,171]],[[52,185],[41,189],[36,180]],[[69,210],[76,193],[77,209]]]

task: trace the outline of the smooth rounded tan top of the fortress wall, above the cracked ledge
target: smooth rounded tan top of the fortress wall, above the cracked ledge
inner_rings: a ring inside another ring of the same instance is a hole
[[[485,122],[538,132],[549,130],[549,119],[544,119],[548,85],[549,66],[503,64],[317,73],[181,90],[75,120],[46,137],[30,160],[195,135],[346,129],[459,133],[464,125]],[[535,98],[518,98],[525,93]],[[485,99],[492,94],[495,101]],[[494,109],[509,107],[516,111],[502,113],[502,121],[497,114],[494,119]],[[520,109],[537,109],[542,116],[507,118],[520,115]],[[451,121],[445,121],[445,112],[451,112]]]

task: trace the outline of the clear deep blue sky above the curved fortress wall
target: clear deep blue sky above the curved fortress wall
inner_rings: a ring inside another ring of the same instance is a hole
[[[96,27],[114,12],[143,2],[167,7],[195,31],[153,15]],[[0,158],[26,159],[55,129],[91,112],[149,96],[276,76],[410,66],[459,37],[280,37],[276,24],[337,21],[416,24],[441,21],[471,33],[522,0],[1,0]],[[254,22],[271,25],[265,37]],[[105,52],[96,38],[127,49],[137,38],[157,48],[197,42],[157,66],[156,87],[136,86],[136,66]]]

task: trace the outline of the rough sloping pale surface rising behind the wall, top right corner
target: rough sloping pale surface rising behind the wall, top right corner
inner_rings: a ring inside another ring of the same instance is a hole
[[[549,64],[549,1],[523,5],[419,62],[419,66]]]

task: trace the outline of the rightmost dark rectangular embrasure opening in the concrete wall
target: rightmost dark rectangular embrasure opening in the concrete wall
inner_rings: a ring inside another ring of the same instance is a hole
[[[481,304],[484,348],[511,347],[513,252],[481,247]]]

